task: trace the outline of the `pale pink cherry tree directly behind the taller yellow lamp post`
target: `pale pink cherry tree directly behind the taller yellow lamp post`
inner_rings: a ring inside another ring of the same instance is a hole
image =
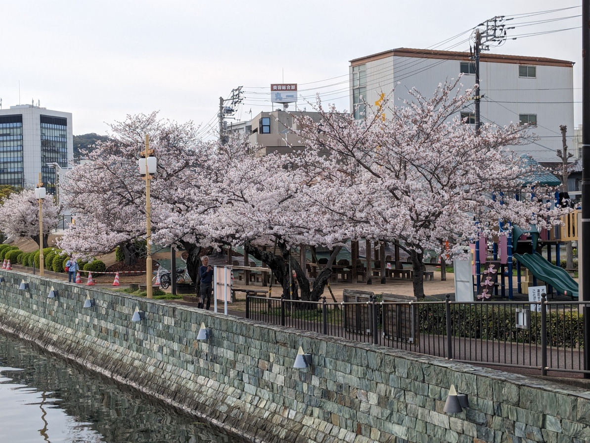
[[[212,151],[200,141],[191,122],[162,120],[156,112],[128,115],[110,128],[112,139],[99,144],[88,154],[88,161],[67,176],[64,200],[76,214],[76,224],[64,233],[59,245],[83,255],[106,253],[118,245],[130,264],[136,259],[130,246],[146,234],[146,185],[137,168],[145,135],[150,136],[150,148],[158,158],[158,172],[150,181],[155,232],[161,227],[162,210],[182,211],[180,184],[189,182],[186,176],[193,177]],[[200,248],[185,240],[181,243],[189,251],[189,273],[195,278]]]

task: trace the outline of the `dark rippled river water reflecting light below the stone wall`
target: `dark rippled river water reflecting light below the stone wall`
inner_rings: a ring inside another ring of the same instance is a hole
[[[0,443],[247,443],[0,332]]]

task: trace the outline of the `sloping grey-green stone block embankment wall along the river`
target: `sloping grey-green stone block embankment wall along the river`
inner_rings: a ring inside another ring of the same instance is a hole
[[[0,327],[261,442],[582,443],[590,393],[174,302],[0,272]],[[21,279],[30,289],[20,291]],[[60,291],[47,298],[50,287]],[[83,308],[87,295],[96,299]],[[131,321],[135,308],[145,319]],[[196,340],[201,322],[212,338]],[[297,349],[313,354],[293,369]],[[470,408],[442,412],[448,388]]]

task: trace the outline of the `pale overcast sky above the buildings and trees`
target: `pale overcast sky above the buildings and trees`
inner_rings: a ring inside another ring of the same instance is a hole
[[[350,109],[353,58],[398,47],[464,51],[496,15],[514,30],[494,54],[575,61],[581,100],[580,1],[563,0],[2,0],[2,108],[40,100],[73,113],[74,134],[107,133],[127,114],[217,127],[219,97],[244,86],[235,117],[271,110],[270,83]],[[526,17],[540,11],[571,8]],[[536,32],[563,30],[544,35]],[[441,42],[458,35],[448,43]],[[461,43],[463,42],[463,43]],[[456,46],[455,46],[456,45]],[[20,89],[19,89],[20,82]],[[299,107],[304,100],[300,98]],[[309,105],[307,106],[309,110]],[[575,103],[575,123],[581,123]],[[568,128],[569,132],[569,128]]]

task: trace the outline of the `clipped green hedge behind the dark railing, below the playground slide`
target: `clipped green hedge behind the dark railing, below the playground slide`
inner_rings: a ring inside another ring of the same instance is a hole
[[[525,308],[529,308],[527,305]],[[421,333],[446,335],[447,315],[444,304],[419,304]],[[531,311],[529,328],[514,326],[516,308],[509,305],[481,304],[451,306],[451,328],[454,337],[478,340],[541,344],[541,313]],[[577,311],[547,312],[547,345],[584,347],[584,317]]]

